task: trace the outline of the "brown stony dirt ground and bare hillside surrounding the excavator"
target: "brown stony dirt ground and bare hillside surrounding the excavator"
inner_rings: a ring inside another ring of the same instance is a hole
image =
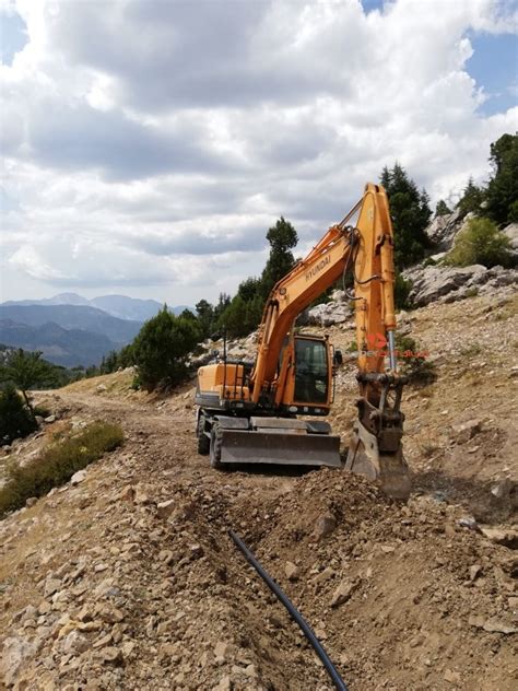
[[[471,298],[409,315],[439,378],[403,402],[405,505],[335,470],[212,470],[196,453],[190,385],[151,399],[115,375],[39,395],[55,425],[118,421],[127,441],[78,484],[0,523],[4,686],[330,690],[232,527],[352,691],[515,689],[515,304]],[[343,348],[352,331],[331,336]],[[352,364],[338,384],[333,425],[345,440]]]

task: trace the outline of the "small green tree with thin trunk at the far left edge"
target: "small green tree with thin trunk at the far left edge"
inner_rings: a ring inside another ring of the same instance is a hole
[[[26,352],[19,348],[0,365],[0,380],[11,382],[21,391],[31,414],[34,410],[27,391],[34,387],[52,387],[56,384],[55,367],[42,360],[42,352]]]

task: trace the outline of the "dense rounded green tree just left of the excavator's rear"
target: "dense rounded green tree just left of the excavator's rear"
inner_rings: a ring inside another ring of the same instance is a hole
[[[162,383],[178,384],[187,374],[186,358],[201,338],[198,321],[163,309],[144,324],[133,341],[141,385],[152,391]]]

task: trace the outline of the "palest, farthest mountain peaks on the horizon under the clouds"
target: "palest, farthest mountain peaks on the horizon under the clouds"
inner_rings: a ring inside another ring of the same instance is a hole
[[[45,297],[43,300],[9,300],[1,305],[7,307],[25,307],[28,305],[74,305],[82,307],[97,307],[103,309],[113,317],[120,319],[130,319],[134,321],[146,321],[154,317],[161,309],[162,303],[156,300],[139,300],[137,297],[128,297],[127,295],[102,295],[86,300],[76,293],[60,293],[54,297]],[[174,314],[180,314],[186,309],[185,305],[169,307]]]

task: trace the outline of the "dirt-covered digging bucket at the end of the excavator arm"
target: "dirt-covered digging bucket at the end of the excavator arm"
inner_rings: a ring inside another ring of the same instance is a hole
[[[358,422],[354,425],[345,470],[375,480],[391,499],[407,501],[410,496],[410,472],[401,444],[395,453],[381,453],[376,436]]]

